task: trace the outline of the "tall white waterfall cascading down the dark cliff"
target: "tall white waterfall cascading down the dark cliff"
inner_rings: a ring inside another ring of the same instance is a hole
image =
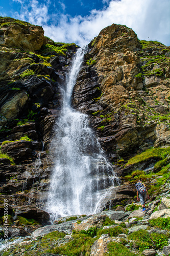
[[[71,108],[85,48],[77,51],[63,90],[63,109],[57,120],[52,150],[55,168],[51,177],[46,210],[52,221],[63,216],[94,214],[107,189],[116,179],[110,163],[88,126],[88,116]]]

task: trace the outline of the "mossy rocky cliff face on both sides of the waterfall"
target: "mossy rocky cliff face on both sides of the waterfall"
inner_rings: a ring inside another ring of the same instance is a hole
[[[41,210],[54,165],[49,146],[62,104],[60,87],[77,46],[55,43],[26,22],[1,17],[0,23],[0,210],[7,198],[9,215],[14,210],[16,218],[11,234],[26,236],[49,221]],[[72,104],[88,114],[117,175],[130,174],[104,202],[106,208],[130,203],[138,178],[153,199],[169,179],[169,55],[169,47],[139,41],[134,31],[115,24],[88,45]],[[140,159],[131,161],[136,154]],[[30,215],[39,224],[26,223]]]

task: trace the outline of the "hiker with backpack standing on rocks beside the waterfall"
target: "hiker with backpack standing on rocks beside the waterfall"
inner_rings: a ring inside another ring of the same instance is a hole
[[[137,201],[140,200],[140,203],[141,203],[141,206],[142,206],[142,211],[145,211],[146,210],[145,209],[145,202],[144,202],[145,198],[148,195],[148,199],[150,199],[150,196],[148,194],[148,190],[140,180],[138,180],[138,182],[135,184],[135,186],[136,186],[136,190],[137,190]],[[138,198],[138,195],[139,195],[139,198]]]

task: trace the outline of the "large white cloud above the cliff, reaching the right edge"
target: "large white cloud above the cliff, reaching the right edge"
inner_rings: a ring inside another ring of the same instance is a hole
[[[15,0],[21,1],[21,0]],[[108,0],[103,0],[105,3]],[[30,2],[29,8],[22,7],[18,18],[43,26],[45,35],[55,41],[88,44],[94,36],[113,23],[132,28],[139,39],[158,40],[170,45],[169,0],[111,0],[103,10],[91,10],[89,16],[70,17],[67,14],[48,14],[50,2]],[[30,11],[29,11],[29,10]],[[51,20],[53,24],[48,26]]]

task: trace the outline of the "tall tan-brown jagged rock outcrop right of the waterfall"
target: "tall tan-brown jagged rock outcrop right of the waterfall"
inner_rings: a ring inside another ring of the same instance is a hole
[[[88,47],[73,104],[91,116],[110,158],[168,145],[169,47],[115,24]]]

